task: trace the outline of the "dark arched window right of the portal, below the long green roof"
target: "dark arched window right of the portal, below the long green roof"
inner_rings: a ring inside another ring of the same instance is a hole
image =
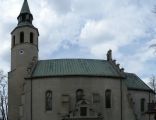
[[[111,90],[109,89],[105,91],[105,106],[111,108]]]

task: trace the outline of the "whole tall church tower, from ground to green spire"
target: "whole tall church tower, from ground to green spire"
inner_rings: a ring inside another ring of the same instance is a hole
[[[9,120],[20,119],[27,67],[33,58],[38,60],[39,32],[32,24],[33,15],[27,0],[24,0],[17,19],[18,24],[11,32],[11,72],[8,75]]]

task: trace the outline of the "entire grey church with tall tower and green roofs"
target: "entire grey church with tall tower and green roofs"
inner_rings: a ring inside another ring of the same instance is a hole
[[[27,0],[17,20],[11,32],[9,120],[154,120],[155,93],[136,74],[124,72],[111,50],[106,60],[39,60],[39,30]]]

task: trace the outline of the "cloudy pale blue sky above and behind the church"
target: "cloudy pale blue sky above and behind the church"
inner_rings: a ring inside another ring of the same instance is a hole
[[[10,32],[23,0],[0,0],[0,69],[10,70]],[[148,82],[156,75],[156,0],[28,0],[40,59],[113,58]]]

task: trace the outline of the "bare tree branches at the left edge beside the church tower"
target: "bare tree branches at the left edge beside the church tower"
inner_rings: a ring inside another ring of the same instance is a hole
[[[8,81],[0,70],[0,113],[2,120],[8,120]]]

